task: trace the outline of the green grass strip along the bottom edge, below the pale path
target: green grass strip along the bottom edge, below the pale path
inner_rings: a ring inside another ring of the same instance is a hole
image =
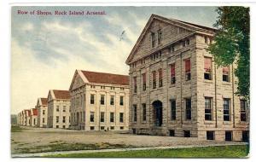
[[[47,157],[56,158],[244,158],[248,145],[219,146],[206,148],[153,149],[106,153],[70,153]]]

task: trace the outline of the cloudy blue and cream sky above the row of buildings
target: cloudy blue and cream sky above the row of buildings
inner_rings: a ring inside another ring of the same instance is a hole
[[[29,14],[38,10],[52,14]],[[128,75],[125,60],[151,14],[210,27],[218,16],[215,7],[21,6],[11,12],[11,113],[35,107],[49,90],[68,90],[76,69]]]

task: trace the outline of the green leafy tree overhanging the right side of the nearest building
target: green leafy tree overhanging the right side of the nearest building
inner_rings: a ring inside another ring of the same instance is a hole
[[[250,97],[250,15],[245,7],[218,7],[218,32],[208,51],[218,67],[236,64],[237,95]]]

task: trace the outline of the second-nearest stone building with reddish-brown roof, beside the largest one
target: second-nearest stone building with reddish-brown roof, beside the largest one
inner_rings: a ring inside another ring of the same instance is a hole
[[[69,90],[72,129],[129,130],[129,76],[76,70]]]

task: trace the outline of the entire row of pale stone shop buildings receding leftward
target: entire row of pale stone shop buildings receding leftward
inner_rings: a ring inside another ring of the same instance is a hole
[[[129,77],[76,71],[66,95],[50,90],[38,99],[38,126],[247,141],[249,108],[236,95],[236,64],[217,67],[207,52],[216,32],[152,14],[125,62]],[[39,107],[47,106],[44,119]]]

